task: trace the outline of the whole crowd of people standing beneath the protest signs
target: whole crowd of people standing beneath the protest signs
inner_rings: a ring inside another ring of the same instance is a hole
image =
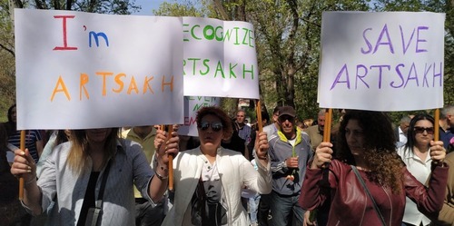
[[[198,136],[153,125],[25,132],[0,123],[5,225],[454,225],[454,106],[439,122],[291,106],[262,113],[202,107]],[[331,124],[327,123],[327,124]],[[325,130],[331,141],[323,140]],[[439,139],[435,132],[439,131]],[[437,140],[437,141],[436,141]],[[449,153],[451,152],[451,153]],[[173,174],[169,174],[173,156]],[[24,198],[18,201],[18,178]],[[173,189],[169,190],[169,180]],[[1,224],[1,223],[0,223]]]

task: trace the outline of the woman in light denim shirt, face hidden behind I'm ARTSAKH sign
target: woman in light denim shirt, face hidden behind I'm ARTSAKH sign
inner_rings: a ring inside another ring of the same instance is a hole
[[[157,162],[178,152],[176,133],[161,145]],[[15,150],[11,172],[23,176],[24,206],[41,214],[52,201],[51,225],[134,225],[133,184],[150,201],[160,201],[167,173],[154,173],[142,147],[118,138],[117,128],[72,131],[70,142],[54,148],[36,182],[36,165],[28,150]]]

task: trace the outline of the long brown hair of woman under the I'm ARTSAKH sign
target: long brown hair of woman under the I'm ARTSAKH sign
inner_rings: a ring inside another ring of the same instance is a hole
[[[85,130],[73,130],[69,137],[72,142],[71,150],[68,154],[68,165],[76,174],[84,174],[90,171],[88,168],[88,137]],[[114,157],[116,152],[116,142],[118,139],[118,128],[112,128],[104,143],[103,167],[107,161]]]

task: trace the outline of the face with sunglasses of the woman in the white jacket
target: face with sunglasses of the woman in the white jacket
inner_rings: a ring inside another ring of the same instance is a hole
[[[203,148],[209,149],[217,149],[221,146],[222,136],[223,136],[223,128],[221,130],[212,129],[216,127],[218,123],[222,123],[221,119],[216,117],[212,114],[207,114],[203,116],[201,120],[201,124],[197,125],[197,131],[199,132],[199,138],[201,142],[201,146]],[[205,127],[206,129],[202,129],[202,125],[210,125]]]

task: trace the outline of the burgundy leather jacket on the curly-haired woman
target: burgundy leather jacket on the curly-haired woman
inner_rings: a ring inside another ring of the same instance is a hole
[[[428,215],[429,218],[436,218],[443,206],[448,170],[449,167],[446,163],[443,167],[435,166],[432,169],[429,188],[427,188],[411,175],[407,167],[403,167],[403,186],[400,194],[393,194],[390,188],[376,183],[375,188],[371,188],[369,182],[368,188],[373,197],[375,197],[374,193],[384,193],[387,196],[380,197],[385,201],[377,203],[386,225],[401,225],[405,209],[405,196],[417,203],[419,211]],[[333,160],[329,168],[329,183],[323,181],[323,171],[321,169],[307,170],[299,200],[303,209],[312,211],[321,206],[322,202],[331,195],[328,226],[382,225],[372,202],[352,172],[350,165]],[[378,192],[372,191],[373,189]]]

